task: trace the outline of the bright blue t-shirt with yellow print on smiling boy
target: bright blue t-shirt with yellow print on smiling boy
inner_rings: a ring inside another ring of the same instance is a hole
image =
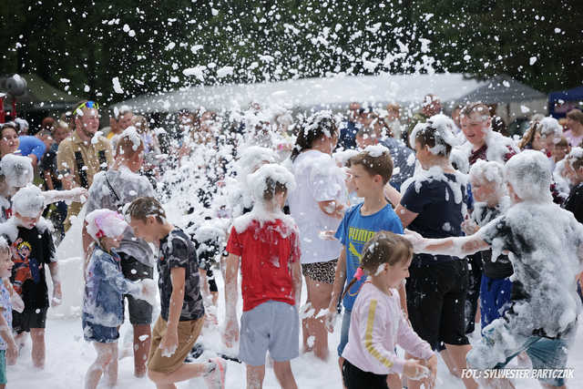
[[[403,233],[403,225],[390,205],[385,205],[373,215],[361,215],[363,204],[358,204],[350,208],[344,214],[343,221],[340,223],[336,234],[334,235],[346,250],[346,284],[351,282],[356,269],[361,264],[361,252],[364,243],[373,238],[375,232],[380,230],[391,231],[394,233]],[[346,296],[344,296],[344,308],[351,311],[354,301],[360,291],[365,277],[361,281],[354,282]]]

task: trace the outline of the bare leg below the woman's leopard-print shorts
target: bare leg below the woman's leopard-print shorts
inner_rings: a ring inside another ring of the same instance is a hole
[[[325,315],[318,317],[318,314],[330,305],[333,285],[331,283],[315,282],[309,277],[306,277],[306,283],[310,293],[310,302],[312,302],[312,308],[314,309],[312,317],[308,318],[306,324],[309,332],[315,337],[314,355],[325,361],[330,353],[330,350],[328,350],[328,331],[324,325]]]

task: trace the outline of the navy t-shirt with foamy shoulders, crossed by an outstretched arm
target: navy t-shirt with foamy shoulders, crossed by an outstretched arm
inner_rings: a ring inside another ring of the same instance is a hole
[[[444,176],[448,182],[445,182]],[[465,179],[456,174],[415,176],[401,198],[404,208],[418,214],[407,229],[431,239],[463,236],[462,221],[466,204]],[[456,260],[449,255],[415,254],[413,264]]]

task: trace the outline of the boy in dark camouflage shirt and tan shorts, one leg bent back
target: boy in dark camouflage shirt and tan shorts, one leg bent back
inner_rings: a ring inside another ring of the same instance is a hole
[[[159,247],[160,316],[152,330],[148,377],[157,387],[204,377],[210,388],[223,388],[226,364],[184,363],[204,324],[199,261],[189,236],[166,219],[158,200],[142,197],[126,209],[126,219],[137,238]]]

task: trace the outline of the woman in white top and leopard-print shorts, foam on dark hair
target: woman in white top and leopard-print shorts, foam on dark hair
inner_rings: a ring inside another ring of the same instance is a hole
[[[332,159],[338,126],[331,111],[320,111],[301,125],[292,150],[292,172],[297,187],[290,193],[292,217],[300,230],[302,273],[308,298],[302,320],[304,351],[322,360],[328,357],[328,332],[324,310],[330,304],[336,262],[342,246],[320,238],[322,231],[336,230],[347,203],[342,169]]]

